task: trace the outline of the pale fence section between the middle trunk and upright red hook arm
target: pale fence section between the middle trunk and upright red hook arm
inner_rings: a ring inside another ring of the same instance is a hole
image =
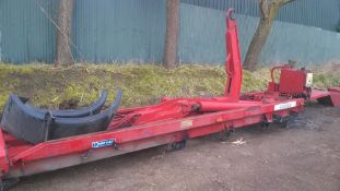
[[[224,60],[224,14],[194,5],[180,5],[179,62],[221,63]]]

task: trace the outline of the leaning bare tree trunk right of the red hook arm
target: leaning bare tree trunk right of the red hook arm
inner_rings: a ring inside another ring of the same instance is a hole
[[[255,70],[259,56],[270,34],[273,20],[280,8],[294,0],[259,0],[260,21],[248,48],[244,69]]]

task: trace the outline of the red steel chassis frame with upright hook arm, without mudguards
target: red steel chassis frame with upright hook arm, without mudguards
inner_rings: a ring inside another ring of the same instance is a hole
[[[260,98],[239,100],[242,64],[237,25],[231,14],[228,11],[226,20],[228,79],[225,96],[163,98],[160,105],[120,109],[106,131],[36,145],[0,131],[1,179],[60,169],[263,121],[272,122],[274,116],[286,117],[303,111],[303,98],[281,97],[277,93],[249,93],[246,97]],[[93,142],[103,140],[112,140],[115,144],[93,148]]]

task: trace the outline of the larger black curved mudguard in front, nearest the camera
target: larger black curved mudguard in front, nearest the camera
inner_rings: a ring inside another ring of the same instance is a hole
[[[11,94],[3,110],[1,128],[15,138],[33,144],[104,131],[116,114],[120,100],[121,89],[118,89],[115,102],[103,112],[87,117],[61,118],[54,117],[49,111],[38,112]]]

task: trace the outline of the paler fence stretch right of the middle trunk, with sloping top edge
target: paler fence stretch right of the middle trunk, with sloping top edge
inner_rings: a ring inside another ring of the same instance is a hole
[[[258,19],[237,15],[243,59]],[[183,3],[180,8],[180,62],[223,63],[225,12]],[[340,34],[316,27],[275,22],[262,50],[261,63],[321,63],[340,59]]]

